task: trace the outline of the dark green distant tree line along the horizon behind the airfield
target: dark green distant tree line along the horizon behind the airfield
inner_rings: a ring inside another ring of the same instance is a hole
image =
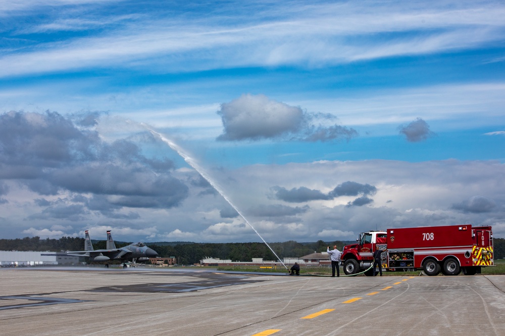
[[[106,241],[92,241],[94,249],[105,249]],[[129,242],[117,241],[116,247],[123,247]],[[280,259],[284,257],[301,257],[314,252],[326,251],[326,247],[337,245],[342,250],[344,245],[351,242],[334,241],[315,243],[298,243],[286,241],[282,243],[269,243]],[[232,261],[251,261],[252,258],[263,260],[277,260],[276,256],[265,243],[193,243],[193,242],[157,242],[147,243],[159,253],[160,257],[174,256],[179,264],[193,264],[205,257],[231,259]],[[79,251],[84,248],[84,238],[62,237],[60,239],[40,239],[40,237],[25,237],[17,239],[0,239],[2,251]],[[494,238],[494,258],[505,258],[505,239]]]

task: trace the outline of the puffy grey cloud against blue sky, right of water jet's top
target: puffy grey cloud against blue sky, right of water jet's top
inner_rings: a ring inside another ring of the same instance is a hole
[[[308,113],[300,107],[269,99],[264,95],[244,94],[221,104],[224,132],[220,141],[282,139],[325,142],[358,135],[355,129],[329,124],[330,114]]]

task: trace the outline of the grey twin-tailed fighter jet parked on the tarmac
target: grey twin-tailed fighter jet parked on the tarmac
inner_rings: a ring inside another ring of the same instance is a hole
[[[149,258],[154,258],[158,255],[158,252],[145,246],[145,244],[141,242],[116,248],[111,231],[107,231],[107,248],[105,250],[94,250],[91,239],[89,239],[89,231],[84,231],[84,234],[84,251],[66,251],[65,253],[68,255],[89,257],[90,261],[121,260],[123,262],[123,267],[126,267],[126,263],[129,261],[133,263],[137,261],[147,261]],[[106,267],[108,266],[109,264],[106,264]]]

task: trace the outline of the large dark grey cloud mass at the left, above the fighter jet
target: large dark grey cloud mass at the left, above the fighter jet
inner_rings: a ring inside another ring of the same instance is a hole
[[[0,195],[9,190],[2,180],[16,181],[37,195],[74,194],[60,197],[58,203],[34,197],[44,209],[27,219],[79,221],[95,210],[110,218],[132,219],[138,214],[117,211],[179,206],[188,187],[171,174],[174,163],[145,156],[138,140],[105,141],[94,129],[97,117],[50,111],[0,114]]]

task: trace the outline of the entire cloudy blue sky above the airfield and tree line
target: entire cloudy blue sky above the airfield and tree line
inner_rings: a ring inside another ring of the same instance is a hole
[[[1,4],[2,235],[260,241],[171,142],[269,242],[462,223],[505,237],[504,15]]]

